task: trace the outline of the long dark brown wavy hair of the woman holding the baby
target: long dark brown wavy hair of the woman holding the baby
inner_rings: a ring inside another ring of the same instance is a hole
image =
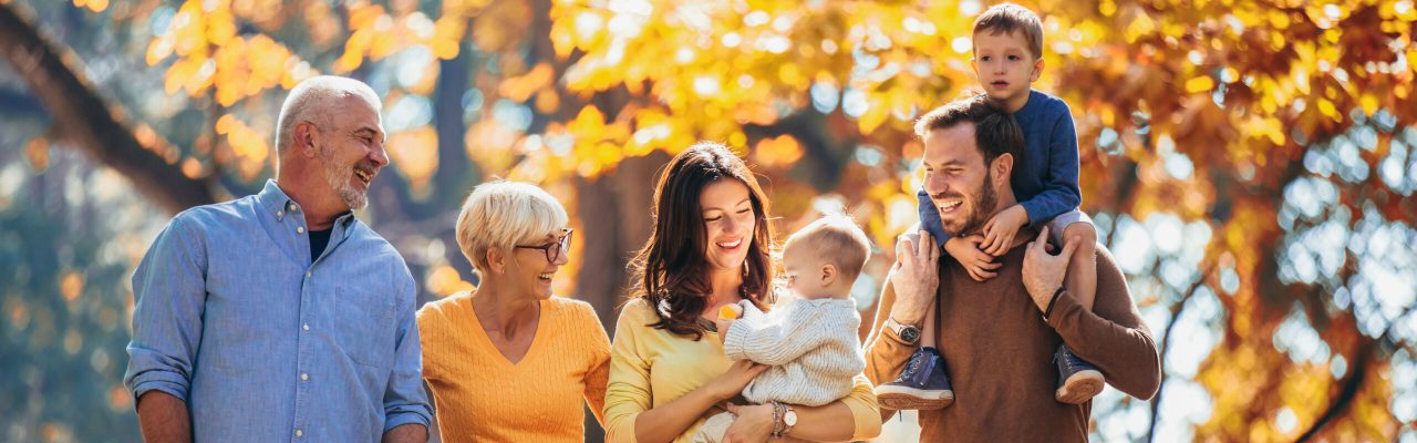
[[[714,142],[699,142],[680,152],[659,176],[655,186],[655,207],[650,217],[655,230],[645,247],[631,261],[635,291],[659,315],[650,327],[677,335],[693,335],[697,341],[707,329],[699,315],[713,291],[708,283],[707,227],[699,207],[699,195],[716,180],[733,179],[748,186],[748,199],[757,219],[752,244],[744,263],[741,294],[760,308],[771,294],[772,227],[768,226],[768,199],[748,165]]]

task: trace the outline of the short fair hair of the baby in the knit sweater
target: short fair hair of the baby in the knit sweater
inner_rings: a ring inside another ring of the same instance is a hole
[[[852,217],[843,214],[822,216],[806,227],[792,233],[782,250],[794,246],[811,247],[812,251],[836,266],[846,281],[854,281],[871,257],[871,240]]]

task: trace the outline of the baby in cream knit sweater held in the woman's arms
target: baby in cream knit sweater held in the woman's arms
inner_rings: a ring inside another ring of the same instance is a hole
[[[794,405],[822,406],[845,398],[853,378],[866,369],[856,337],[862,315],[850,292],[867,257],[870,240],[856,223],[846,216],[822,217],[784,246],[784,271],[792,292],[785,302],[768,314],[741,302],[724,307],[733,312],[718,315],[718,338],[730,359],[772,366],[743,389],[743,398],[754,405],[772,403],[782,417],[774,437],[792,432]],[[728,412],[708,417],[693,442],[723,440],[733,419]]]

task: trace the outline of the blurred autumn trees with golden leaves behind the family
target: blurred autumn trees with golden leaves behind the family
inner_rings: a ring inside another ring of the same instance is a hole
[[[140,439],[133,267],[174,213],[259,190],[285,91],[316,74],[384,97],[394,173],[360,216],[419,302],[476,281],[453,220],[507,177],[565,203],[557,291],[614,328],[653,177],[707,139],[764,177],[779,236],[867,229],[869,315],[915,220],[911,122],[979,89],[990,4],[0,0],[0,440]],[[1417,442],[1413,1],[1023,4],[1163,359],[1155,399],[1094,402],[1093,437]]]

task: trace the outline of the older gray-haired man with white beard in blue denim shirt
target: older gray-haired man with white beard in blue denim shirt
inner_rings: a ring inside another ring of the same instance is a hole
[[[125,376],[147,442],[428,440],[415,283],[353,213],[388,165],[381,108],[356,80],[300,82],[276,177],[153,241]]]

